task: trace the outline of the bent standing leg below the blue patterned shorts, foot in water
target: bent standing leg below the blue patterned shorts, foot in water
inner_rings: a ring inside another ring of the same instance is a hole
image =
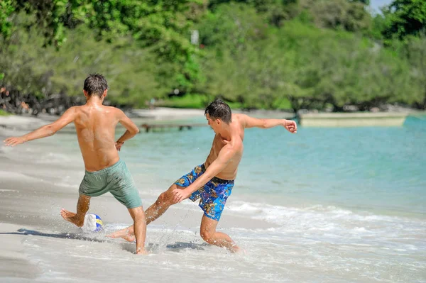
[[[226,235],[225,233],[216,232],[217,223],[216,220],[207,217],[205,214],[202,216],[200,235],[203,240],[212,245],[217,245],[218,247],[227,248],[231,253],[236,253],[239,251],[238,245],[234,240]]]

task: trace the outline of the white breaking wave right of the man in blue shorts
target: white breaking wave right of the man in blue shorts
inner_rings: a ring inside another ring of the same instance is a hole
[[[426,221],[402,216],[354,212],[337,206],[308,206],[305,208],[273,206],[271,204],[234,201],[227,205],[234,215],[273,223],[271,231],[304,233],[312,236],[352,238],[381,235],[386,238],[417,238],[426,234]]]

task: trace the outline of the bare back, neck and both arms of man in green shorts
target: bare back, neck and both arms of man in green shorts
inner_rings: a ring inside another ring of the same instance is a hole
[[[94,172],[114,165],[120,159],[117,150],[125,140],[139,132],[138,127],[120,109],[102,105],[104,97],[107,96],[107,89],[101,95],[91,95],[84,90],[84,96],[87,103],[83,106],[71,107],[55,122],[21,137],[8,138],[4,142],[13,147],[30,140],[45,138],[74,122],[85,169]],[[115,143],[117,123],[126,128],[126,133]]]

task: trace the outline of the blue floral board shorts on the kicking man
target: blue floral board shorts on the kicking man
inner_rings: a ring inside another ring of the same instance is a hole
[[[175,182],[180,187],[189,187],[198,177],[206,172],[206,167],[203,165],[196,166],[186,175],[183,175]],[[204,187],[193,192],[190,196],[191,201],[200,199],[200,204],[204,215],[219,221],[222,211],[224,210],[226,199],[231,195],[234,187],[234,180],[225,180],[213,177]]]

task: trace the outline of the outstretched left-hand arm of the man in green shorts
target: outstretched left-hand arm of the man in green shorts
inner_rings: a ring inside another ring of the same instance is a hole
[[[42,126],[37,130],[32,131],[31,133],[22,135],[21,137],[6,138],[6,140],[4,140],[4,143],[6,144],[6,146],[11,145],[13,147],[15,145],[19,145],[30,140],[36,140],[38,138],[45,138],[50,135],[54,135],[61,128],[64,128],[69,123],[75,120],[75,113],[75,107],[71,107],[70,109],[65,111],[65,113],[63,113],[62,116],[55,122]]]

